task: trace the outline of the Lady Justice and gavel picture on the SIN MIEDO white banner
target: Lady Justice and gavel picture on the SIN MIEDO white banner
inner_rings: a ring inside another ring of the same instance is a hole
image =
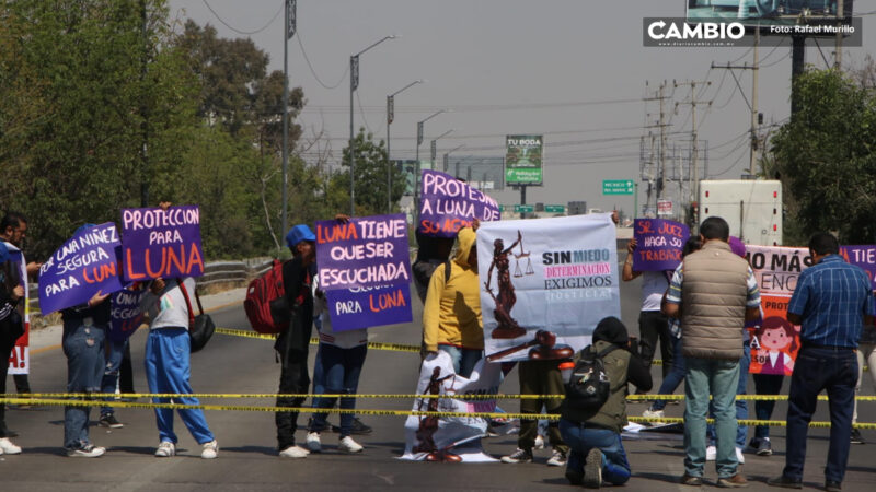
[[[520,253],[514,253],[515,248],[518,247]],[[487,270],[484,288],[486,288],[486,292],[493,298],[495,305],[493,315],[498,326],[489,335],[494,339],[515,339],[527,335],[526,328],[521,327],[511,316],[511,309],[517,303],[517,294],[515,294],[511,281],[509,255],[515,258],[514,278],[522,278],[535,273],[530,258],[531,251],[523,249],[523,235],[520,231],[517,231],[517,239],[507,248],[502,238],[493,242],[493,260]],[[520,263],[523,259],[526,261],[523,269],[521,269]],[[494,293],[492,288],[494,269],[496,270],[496,289],[498,293]],[[556,333],[540,329],[532,340],[493,353],[486,359],[492,362],[526,349],[530,349],[530,360],[566,359],[574,354],[574,350],[570,347],[556,344]]]

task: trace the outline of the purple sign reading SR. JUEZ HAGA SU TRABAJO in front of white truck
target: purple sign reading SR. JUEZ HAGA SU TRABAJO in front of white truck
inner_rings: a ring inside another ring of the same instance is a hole
[[[675,270],[681,262],[681,249],[691,236],[687,225],[665,219],[636,219],[633,230],[636,239],[634,271]]]

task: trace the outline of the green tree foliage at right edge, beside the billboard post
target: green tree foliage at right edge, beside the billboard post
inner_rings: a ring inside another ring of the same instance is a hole
[[[768,161],[791,194],[792,234],[838,231],[845,244],[876,241],[876,94],[837,70],[795,81],[799,112],[772,139]]]

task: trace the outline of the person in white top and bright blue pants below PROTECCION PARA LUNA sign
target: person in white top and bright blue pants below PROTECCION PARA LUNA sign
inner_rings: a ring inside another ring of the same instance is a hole
[[[146,342],[146,380],[150,393],[192,394],[189,378],[191,339],[188,336],[189,313],[185,293],[178,279],[154,279],[140,303],[149,317],[149,339]],[[183,286],[194,295],[196,285],[191,277],[182,279]],[[103,373],[103,372],[102,372]],[[153,403],[169,403],[170,398],[152,398]],[[195,397],[173,398],[182,405],[200,405]],[[200,457],[216,458],[219,444],[216,442],[204,410],[180,409],[180,418],[192,437],[201,446]],[[168,458],[176,454],[177,437],[173,432],[173,410],[155,409],[159,430],[159,446],[155,456]]]

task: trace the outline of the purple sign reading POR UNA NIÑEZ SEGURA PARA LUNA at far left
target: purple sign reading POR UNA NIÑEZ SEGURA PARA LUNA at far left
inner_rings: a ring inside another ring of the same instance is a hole
[[[112,222],[77,231],[39,268],[39,311],[54,313],[84,304],[97,291],[120,290],[120,246]]]

